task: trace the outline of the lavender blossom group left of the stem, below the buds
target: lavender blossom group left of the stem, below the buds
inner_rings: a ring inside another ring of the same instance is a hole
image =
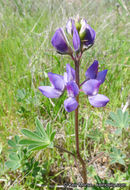
[[[74,111],[78,107],[75,97],[79,93],[75,82],[75,70],[67,64],[64,76],[49,72],[48,77],[52,86],[40,86],[42,94],[48,98],[59,98],[67,90],[68,98],[64,101],[64,107],[67,112]]]

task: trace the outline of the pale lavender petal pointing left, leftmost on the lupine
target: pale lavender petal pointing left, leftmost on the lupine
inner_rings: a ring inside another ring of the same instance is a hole
[[[51,86],[40,86],[39,90],[42,92],[44,96],[47,98],[59,98],[62,94],[61,91],[56,90]]]

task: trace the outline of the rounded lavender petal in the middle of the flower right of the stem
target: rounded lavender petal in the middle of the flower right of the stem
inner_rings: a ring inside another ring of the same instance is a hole
[[[98,93],[100,82],[98,80],[90,79],[82,86],[82,90],[86,95],[96,95]]]

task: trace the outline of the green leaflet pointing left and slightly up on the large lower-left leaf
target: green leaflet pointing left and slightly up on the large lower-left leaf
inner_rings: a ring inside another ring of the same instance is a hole
[[[37,140],[37,141],[42,141],[42,140],[43,140],[43,139],[42,139],[40,136],[38,136],[36,133],[31,132],[31,131],[29,131],[28,129],[22,129],[21,132],[22,132],[25,136],[27,136],[27,137],[29,137],[29,138],[31,138],[31,139],[34,139],[34,140]]]

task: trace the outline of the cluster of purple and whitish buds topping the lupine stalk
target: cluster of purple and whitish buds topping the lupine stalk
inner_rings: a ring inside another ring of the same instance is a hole
[[[73,38],[75,52],[84,51],[94,44],[96,33],[85,19],[69,19],[66,25],[66,32]],[[70,55],[73,53],[73,48],[69,45],[62,28],[56,30],[51,43],[58,53]]]

